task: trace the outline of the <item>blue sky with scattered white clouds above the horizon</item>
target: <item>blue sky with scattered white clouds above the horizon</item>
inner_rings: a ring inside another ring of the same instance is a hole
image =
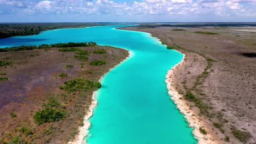
[[[256,22],[256,0],[0,0],[0,22]]]

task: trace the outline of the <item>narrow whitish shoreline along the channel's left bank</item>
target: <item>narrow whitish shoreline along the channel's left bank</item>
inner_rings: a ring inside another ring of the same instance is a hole
[[[119,49],[124,49],[121,47],[118,47]],[[126,49],[124,49],[126,50]],[[123,61],[115,65],[113,68],[110,68],[106,73],[104,73],[101,78],[98,80],[99,82],[102,80],[102,78],[108,74],[112,69],[116,68],[119,64],[125,62],[127,59],[129,59],[132,56],[132,52],[130,50],[126,50],[129,52],[129,56],[127,56]],[[97,91],[97,90],[96,90]],[[89,129],[91,127],[91,123],[89,122],[89,119],[94,115],[94,109],[97,106],[98,101],[95,99],[95,93],[92,94],[92,101],[91,105],[89,106],[88,111],[86,112],[86,115],[84,116],[84,125],[82,127],[79,127],[79,133],[75,136],[75,139],[72,141],[69,141],[69,144],[85,144],[86,140],[84,138],[88,136],[89,134]]]

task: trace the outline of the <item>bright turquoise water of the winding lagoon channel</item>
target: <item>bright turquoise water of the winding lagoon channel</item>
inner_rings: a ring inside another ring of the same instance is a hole
[[[0,39],[0,46],[95,41],[130,50],[131,57],[104,76],[96,92],[88,144],[196,143],[164,82],[167,70],[181,61],[181,53],[166,49],[148,33],[117,27],[122,26],[58,29]]]

